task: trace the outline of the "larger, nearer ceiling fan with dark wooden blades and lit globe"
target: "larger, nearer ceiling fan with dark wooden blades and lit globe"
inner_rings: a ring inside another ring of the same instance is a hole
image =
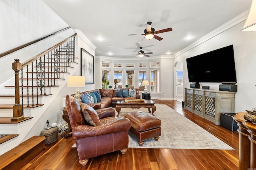
[[[155,29],[151,27],[151,23],[152,22],[147,22],[146,29],[144,29],[144,34],[129,34],[129,35],[145,35],[146,39],[154,38],[154,39],[161,41],[163,38],[158,37],[155,34],[172,31],[172,28],[166,28],[166,29],[161,29],[161,30],[155,31]]]

